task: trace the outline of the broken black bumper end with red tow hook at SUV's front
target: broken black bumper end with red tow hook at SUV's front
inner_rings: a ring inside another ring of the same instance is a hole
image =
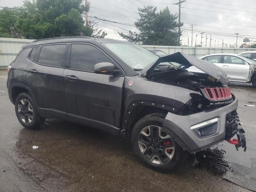
[[[231,144],[234,144],[236,146],[236,150],[238,150],[239,147],[242,147],[244,148],[244,151],[246,151],[246,138],[244,133],[245,131],[242,128],[237,112],[233,111],[230,114],[228,114],[226,116],[225,140],[227,140]],[[238,139],[231,140],[231,138],[235,134]]]

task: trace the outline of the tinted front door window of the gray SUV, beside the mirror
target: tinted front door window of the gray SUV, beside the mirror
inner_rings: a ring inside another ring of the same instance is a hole
[[[88,44],[72,44],[70,68],[85,71],[94,71],[94,65],[112,61],[100,50]]]

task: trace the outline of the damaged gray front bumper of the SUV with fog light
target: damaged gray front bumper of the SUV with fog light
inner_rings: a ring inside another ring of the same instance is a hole
[[[187,116],[169,112],[164,120],[163,129],[184,150],[189,152],[197,152],[223,140],[231,140],[235,134],[238,136],[236,148],[241,146],[246,150],[244,130],[236,114],[237,107],[238,100],[235,99],[226,106],[207,109]],[[231,119],[230,114],[234,113],[235,116]]]

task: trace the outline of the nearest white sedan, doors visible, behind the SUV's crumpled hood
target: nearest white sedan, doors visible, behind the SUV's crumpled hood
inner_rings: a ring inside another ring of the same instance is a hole
[[[207,60],[224,72],[232,82],[252,83],[256,87],[256,61],[238,54],[220,53],[200,57]],[[196,67],[190,67],[190,72],[202,72]],[[202,72],[203,73],[203,72]]]

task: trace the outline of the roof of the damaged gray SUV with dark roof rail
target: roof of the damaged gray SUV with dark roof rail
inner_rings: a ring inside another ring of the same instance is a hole
[[[107,39],[107,38],[72,36],[72,37],[56,37],[56,38],[48,38],[48,39],[39,39],[39,40],[33,41],[32,43],[24,45],[22,48],[26,48],[29,46],[35,46],[35,45],[41,45],[41,44],[64,43],[64,42],[130,43],[128,41]]]

